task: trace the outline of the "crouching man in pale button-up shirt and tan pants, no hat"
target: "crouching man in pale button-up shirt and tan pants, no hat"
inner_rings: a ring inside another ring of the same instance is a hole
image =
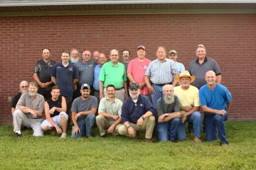
[[[100,136],[105,138],[106,130],[112,135],[119,135],[118,129],[121,120],[122,101],[114,96],[114,85],[107,86],[107,97],[100,100],[100,106],[96,117],[97,127],[100,130]]]

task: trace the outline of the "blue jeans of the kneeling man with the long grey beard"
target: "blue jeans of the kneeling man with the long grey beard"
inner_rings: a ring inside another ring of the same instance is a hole
[[[181,120],[179,118],[174,118],[166,123],[157,123],[156,130],[159,141],[176,140],[180,124]]]

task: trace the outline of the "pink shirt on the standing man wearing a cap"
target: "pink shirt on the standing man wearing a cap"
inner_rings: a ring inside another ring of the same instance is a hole
[[[131,60],[128,65],[127,74],[132,74],[132,77],[134,77],[137,83],[139,84],[143,83],[145,72],[150,62],[151,61],[146,58],[144,58],[143,62],[139,62],[138,58]],[[132,84],[132,82],[130,84]],[[141,89],[140,94],[143,94],[143,95],[150,94],[146,84]]]

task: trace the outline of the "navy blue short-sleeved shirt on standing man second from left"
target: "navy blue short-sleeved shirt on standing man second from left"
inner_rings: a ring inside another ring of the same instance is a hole
[[[78,69],[74,64],[69,63],[64,67],[61,62],[53,66],[50,74],[56,77],[56,85],[60,87],[60,96],[73,96],[73,80],[79,78]]]

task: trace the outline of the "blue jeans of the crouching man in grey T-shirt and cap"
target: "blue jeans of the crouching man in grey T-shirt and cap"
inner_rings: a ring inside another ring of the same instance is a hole
[[[80,128],[80,132],[76,135],[71,135],[73,138],[82,137],[84,135],[92,135],[92,129],[95,124],[95,115],[90,113],[86,116],[85,119],[82,119],[78,122],[78,127]],[[72,132],[75,126],[72,127]]]

